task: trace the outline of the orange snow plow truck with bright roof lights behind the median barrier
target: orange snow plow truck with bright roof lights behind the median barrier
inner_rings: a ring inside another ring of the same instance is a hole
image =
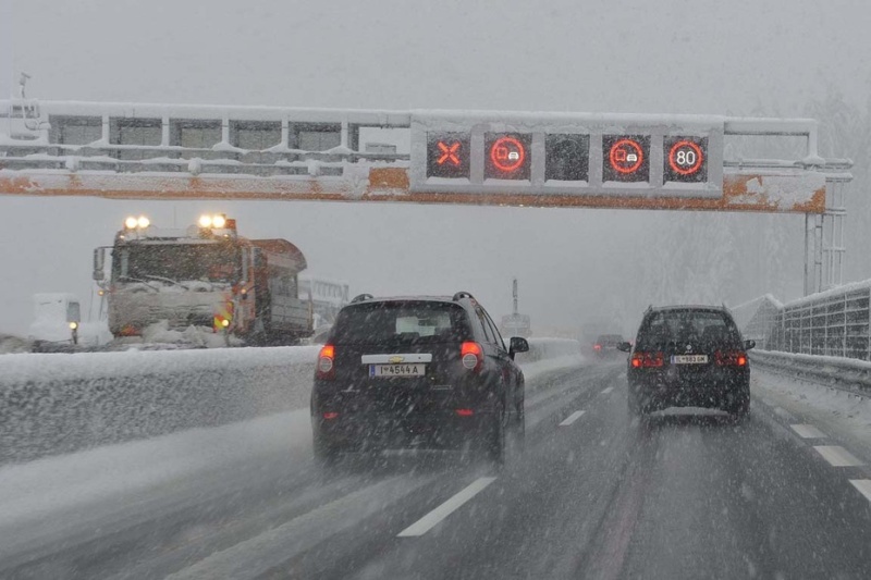
[[[106,275],[106,250],[111,250]],[[127,218],[114,245],[94,251],[94,280],[106,298],[115,338],[152,324],[209,328],[250,345],[295,344],[311,334],[298,296],[303,252],[286,239],[247,239],[223,214],[186,229]]]

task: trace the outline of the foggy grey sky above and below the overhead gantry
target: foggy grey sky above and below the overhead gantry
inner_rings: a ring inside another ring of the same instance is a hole
[[[871,88],[863,2],[13,8],[14,67],[33,75],[29,94],[46,100],[800,115],[830,89],[860,103]],[[645,232],[674,215],[11,197],[0,208],[0,332],[16,333],[30,322],[33,293],[74,292],[87,304],[91,249],[111,243],[134,212],[156,223],[175,213],[183,224],[224,210],[243,235],[291,239],[312,273],[343,277],[353,292],[464,288],[495,316],[510,310],[518,275],[523,309],[551,326],[575,325],[615,294],[643,293],[623,264],[645,249]]]

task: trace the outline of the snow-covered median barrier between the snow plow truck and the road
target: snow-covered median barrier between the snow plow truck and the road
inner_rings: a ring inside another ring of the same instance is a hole
[[[520,365],[579,348],[576,341],[549,338],[530,347]],[[0,356],[0,465],[305,408],[318,350]]]

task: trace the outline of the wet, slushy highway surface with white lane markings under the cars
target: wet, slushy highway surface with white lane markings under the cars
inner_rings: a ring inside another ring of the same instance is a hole
[[[852,483],[869,471],[817,446],[863,461],[868,449],[835,432],[803,440],[770,403],[795,398],[825,415],[839,395],[756,372],[743,423],[712,411],[638,423],[621,361],[526,371],[526,453],[514,448],[501,470],[395,453],[324,472],[305,410],[0,468],[0,576],[871,573],[871,502]]]

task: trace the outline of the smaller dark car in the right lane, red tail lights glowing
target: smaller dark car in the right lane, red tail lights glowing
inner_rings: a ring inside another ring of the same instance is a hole
[[[710,407],[737,417],[750,409],[753,341],[743,341],[726,308],[671,306],[645,312],[627,378],[634,415],[666,407]]]

